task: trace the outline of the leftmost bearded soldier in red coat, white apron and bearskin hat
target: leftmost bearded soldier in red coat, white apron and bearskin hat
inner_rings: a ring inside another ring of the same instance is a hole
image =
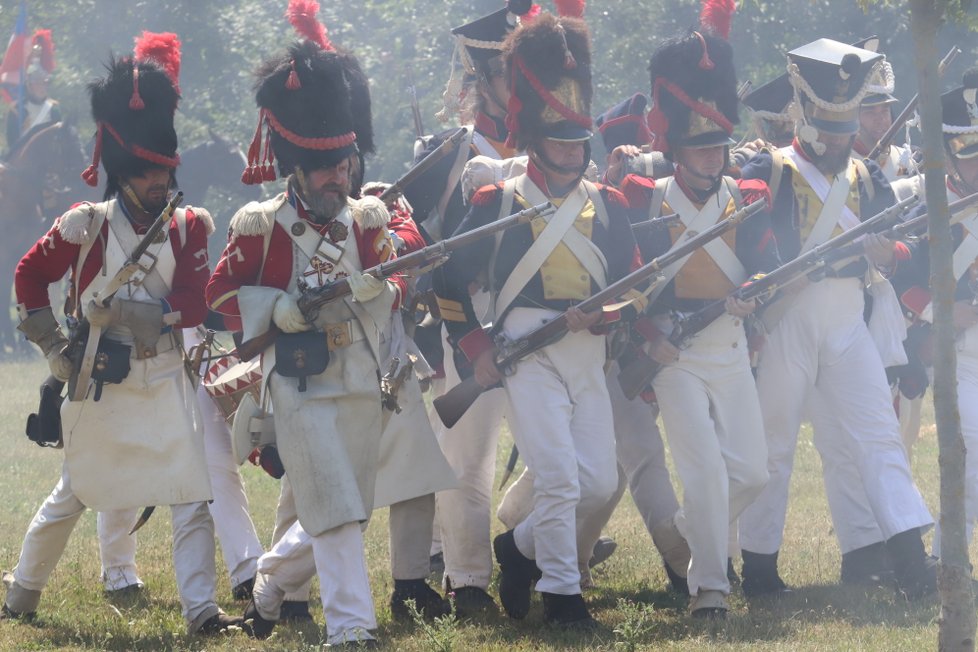
[[[107,305],[94,300],[161,213],[174,182],[178,47],[173,34],[144,34],[135,57],[111,60],[108,77],[89,87],[98,135],[95,160],[83,177],[97,182],[101,158],[106,201],[78,204],[62,215],[17,266],[20,330],[44,352],[52,374],[62,381],[72,375],[67,340],[48,299],[48,286],[65,274],[73,289],[71,316],[88,320],[90,337],[102,332],[97,359],[107,359],[110,369],[118,362],[123,372],[112,378],[93,373],[96,380],[62,405],[61,481],[27,531],[4,616],[34,613],[86,507],[170,505],[189,631],[216,632],[240,622],[221,613],[214,598],[211,488],[178,336],[179,328],[196,326],[207,312],[206,240],[213,224],[178,209],[164,237],[148,249],[149,270],[132,277]]]

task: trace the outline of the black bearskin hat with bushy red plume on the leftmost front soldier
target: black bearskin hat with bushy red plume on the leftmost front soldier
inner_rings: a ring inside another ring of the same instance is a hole
[[[135,57],[113,57],[108,76],[88,85],[98,126],[92,165],[82,173],[89,185],[98,183],[100,159],[109,177],[107,195],[120,177],[180,164],[173,128],[180,99],[179,47],[174,34],[144,32]]]

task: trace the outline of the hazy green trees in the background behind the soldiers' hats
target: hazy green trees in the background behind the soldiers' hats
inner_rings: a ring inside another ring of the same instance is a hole
[[[897,74],[897,95],[914,92],[908,17],[902,2],[856,0],[743,0],[734,17],[731,42],[741,79],[755,87],[784,70],[784,53],[815,38],[855,41],[878,34]],[[871,3],[871,4],[870,4]],[[430,2],[363,0],[323,2],[320,18],[334,43],[353,50],[371,77],[378,153],[368,178],[392,181],[408,167],[414,130],[406,92],[413,75],[425,128],[442,128],[434,118],[449,76],[451,27],[487,14],[502,0]],[[969,0],[951,0],[974,23]],[[181,87],[184,98],[177,128],[184,148],[207,139],[209,128],[243,147],[254,133],[257,112],[251,72],[280,51],[294,34],[284,18],[285,0],[37,0],[28,2],[30,27],[54,32],[58,68],[52,95],[86,136],[93,133],[85,84],[101,73],[110,51],[131,51],[143,29],[174,31],[183,41]],[[553,10],[549,2],[543,3]],[[594,40],[593,113],[635,92],[648,92],[646,67],[656,45],[697,22],[698,0],[589,3],[586,18]],[[969,13],[970,12],[970,13]],[[0,5],[0,38],[13,29],[17,2]],[[953,16],[952,16],[953,17]],[[965,52],[948,74],[946,86],[978,54],[966,24],[945,27],[942,41]],[[601,160],[600,147],[595,158]]]

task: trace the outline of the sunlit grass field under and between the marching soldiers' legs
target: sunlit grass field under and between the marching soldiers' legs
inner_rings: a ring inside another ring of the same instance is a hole
[[[0,425],[4,442],[0,462],[0,567],[7,570],[16,564],[27,525],[60,473],[61,453],[41,449],[23,435],[24,418],[36,408],[37,385],[44,373],[39,361],[0,365],[6,416]],[[928,408],[915,450],[914,476],[936,513],[937,439],[931,423]],[[508,453],[507,439],[500,447],[500,469]],[[626,496],[606,532],[618,541],[618,551],[595,570],[597,587],[586,596],[594,615],[607,629],[588,637],[543,626],[538,600],[521,623],[502,615],[429,630],[393,623],[387,607],[392,588],[387,515],[378,511],[367,532],[378,635],[389,649],[399,650],[936,649],[936,600],[908,605],[889,590],[837,585],[840,558],[820,470],[811,433],[806,429],[799,441],[781,553],[782,575],[797,590],[779,602],[751,604],[735,591],[725,623],[691,622],[686,601],[666,592],[658,554]],[[255,524],[262,540],[268,541],[278,483],[250,466],[244,475]],[[494,527],[501,526],[497,523]],[[95,514],[87,512],[42,597],[38,619],[33,624],[0,622],[0,650],[284,651],[321,647],[322,612],[318,603],[313,608],[317,625],[282,626],[267,641],[256,642],[242,633],[218,638],[186,636],[170,560],[169,532],[168,512],[158,510],[139,533],[137,558],[146,590],[133,602],[111,604],[99,581]],[[930,536],[927,539],[929,543]],[[218,601],[229,613],[240,613],[244,605],[231,600],[220,560],[218,569]],[[495,592],[495,587],[490,591]]]

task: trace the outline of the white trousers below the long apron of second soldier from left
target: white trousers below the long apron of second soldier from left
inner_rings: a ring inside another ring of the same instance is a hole
[[[254,590],[258,613],[278,620],[286,594],[307,585],[317,573],[326,642],[336,645],[373,638],[369,630],[377,628],[377,618],[359,523],[345,523],[314,537],[298,522],[289,528],[258,560]]]

